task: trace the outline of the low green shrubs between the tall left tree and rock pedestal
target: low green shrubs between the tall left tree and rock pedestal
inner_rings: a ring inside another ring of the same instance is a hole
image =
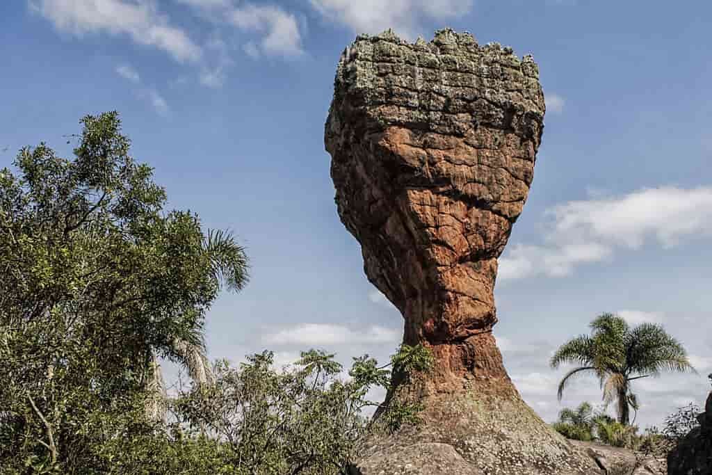
[[[431,363],[422,345],[402,345],[388,365],[354,358],[345,378],[334,355],[323,351],[304,352],[279,369],[266,351],[238,367],[218,362],[214,385],[181,392],[171,407],[188,432],[207,429],[223,442],[220,465],[233,467],[231,473],[346,474],[367,432],[418,422],[418,408],[404,404],[370,419],[367,409],[380,404],[368,399],[369,390],[387,387],[391,368],[427,371]]]

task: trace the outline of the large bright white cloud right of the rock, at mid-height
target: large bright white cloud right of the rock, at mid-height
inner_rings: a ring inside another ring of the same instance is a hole
[[[567,276],[582,263],[652,241],[664,249],[712,235],[712,187],[642,189],[622,197],[568,202],[553,218],[543,245],[518,244],[500,259],[501,279]]]

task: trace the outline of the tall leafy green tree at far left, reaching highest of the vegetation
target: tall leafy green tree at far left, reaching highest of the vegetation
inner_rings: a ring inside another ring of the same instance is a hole
[[[247,281],[244,249],[165,211],[117,113],[88,115],[73,159],[41,143],[0,170],[0,467],[102,471],[153,429],[167,357],[199,374],[206,311]],[[0,470],[3,471],[3,470]]]

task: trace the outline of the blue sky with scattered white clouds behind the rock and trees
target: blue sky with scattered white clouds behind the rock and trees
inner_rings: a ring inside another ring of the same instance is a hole
[[[270,348],[384,359],[402,318],[338,220],[323,124],[342,49],[392,27],[533,53],[548,103],[496,297],[508,370],[545,419],[547,360],[598,313],[655,321],[700,375],[636,384],[642,425],[700,404],[712,372],[709,1],[14,0],[0,6],[0,166],[119,110],[170,204],[247,246],[252,281],[208,317],[211,357]],[[598,402],[580,380],[563,404]]]

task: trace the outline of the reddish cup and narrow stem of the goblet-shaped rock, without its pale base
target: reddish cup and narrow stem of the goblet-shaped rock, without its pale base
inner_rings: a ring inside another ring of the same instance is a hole
[[[538,68],[441,31],[360,37],[339,63],[326,127],[339,215],[369,280],[425,343],[438,377],[506,380],[491,330],[497,258],[541,140]]]

